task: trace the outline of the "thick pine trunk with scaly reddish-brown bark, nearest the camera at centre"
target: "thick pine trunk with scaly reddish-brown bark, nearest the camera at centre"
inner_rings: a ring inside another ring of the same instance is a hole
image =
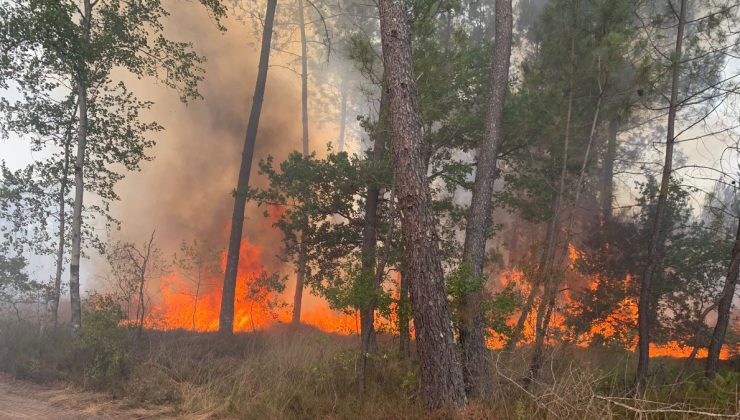
[[[465,403],[445,292],[432,196],[422,156],[421,112],[403,0],[380,0],[383,63],[393,133],[393,166],[405,262],[421,365],[421,395],[429,408]]]

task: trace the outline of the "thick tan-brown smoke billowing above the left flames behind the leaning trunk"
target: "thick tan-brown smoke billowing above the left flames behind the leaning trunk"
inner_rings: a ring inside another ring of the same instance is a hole
[[[121,201],[113,211],[122,221],[117,238],[138,243],[156,229],[158,246],[171,255],[183,240],[208,240],[219,248],[227,243],[261,26],[253,27],[259,23],[249,18],[230,19],[228,30],[221,33],[197,2],[172,1],[169,10],[167,36],[192,41],[208,60],[200,85],[203,99],[184,105],[175,92],[151,80],[129,81],[142,98],[155,103],[149,117],[165,129],[156,135],[157,145],[151,151],[155,159],[121,182],[117,189]],[[290,33],[289,28],[275,30]],[[288,65],[284,56],[271,54],[251,186],[266,184],[257,174],[260,159],[272,155],[281,161],[301,147],[300,77],[283,67]],[[311,150],[319,155],[326,143],[336,143],[335,124],[317,123],[327,119],[327,113],[311,113]],[[262,247],[263,264],[277,270],[282,265],[276,257],[282,252],[281,236],[262,214],[263,209],[254,204],[247,207],[244,239]]]

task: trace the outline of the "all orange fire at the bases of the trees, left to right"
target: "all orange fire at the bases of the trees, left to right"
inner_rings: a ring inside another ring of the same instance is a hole
[[[578,252],[570,250],[571,258],[578,258]],[[575,255],[575,257],[574,257]],[[259,282],[264,276],[264,267],[260,262],[262,249],[260,247],[242,241],[239,270],[237,274],[236,301],[234,305],[234,331],[253,332],[264,330],[277,324],[289,324],[292,312],[282,302],[282,295],[269,290]],[[163,276],[159,282],[159,295],[161,299],[149,311],[144,326],[154,330],[190,330],[197,332],[212,332],[218,330],[220,302],[222,293],[223,270],[225,268],[226,256],[222,256],[221,273],[215,273],[202,278],[200,284],[192,281],[184,273],[176,271]],[[500,282],[506,286],[513,284],[524,295],[530,292],[531,286],[525,280],[525,275],[518,270],[509,270],[501,274]],[[588,279],[589,289],[596,290],[601,280],[598,277]],[[632,282],[627,275],[622,281],[623,291]],[[397,297],[397,291],[392,291]],[[291,294],[292,295],[292,294]],[[555,311],[549,326],[548,344],[553,345],[568,341],[581,348],[589,348],[598,342],[619,343],[623,348],[634,351],[637,347],[635,329],[637,325],[637,301],[634,297],[627,296],[620,301],[606,317],[594,322],[589,331],[573,339],[571,331],[566,325],[566,318],[574,316],[572,311],[572,298],[570,291],[563,293],[563,302],[558,304],[561,310]],[[537,308],[538,301],[535,300],[533,308]],[[321,331],[335,334],[352,335],[359,334],[359,320],[356,314],[348,314],[332,310],[329,305],[320,299],[313,299],[310,304],[304,304],[304,312],[301,314],[301,323],[313,326]],[[390,319],[380,316],[376,317],[376,329],[391,334],[398,334],[397,319],[392,312]],[[518,314],[508,320],[510,327],[516,324]],[[534,342],[536,313],[531,311],[524,328],[521,332],[520,345],[528,345]],[[487,340],[491,349],[502,349],[508,337],[489,331]],[[570,339],[562,340],[564,337]],[[413,331],[412,331],[413,337]],[[692,353],[692,348],[683,346],[676,341],[667,343],[650,344],[650,355],[652,357],[686,358]],[[720,353],[720,359],[726,360],[738,353],[740,349],[731,349],[725,345]],[[706,358],[707,349],[700,348],[696,358]]]

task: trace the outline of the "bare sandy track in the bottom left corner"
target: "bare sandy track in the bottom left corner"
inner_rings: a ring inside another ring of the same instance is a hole
[[[167,407],[132,407],[105,394],[41,386],[0,375],[0,419],[163,419]]]

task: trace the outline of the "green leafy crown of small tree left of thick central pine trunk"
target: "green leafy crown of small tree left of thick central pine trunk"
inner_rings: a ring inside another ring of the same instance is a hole
[[[331,149],[324,159],[294,152],[279,168],[271,157],[260,162],[260,173],[269,187],[252,189],[247,198],[279,209],[273,211],[278,216],[274,225],[283,233],[286,253],[295,263],[301,244],[305,246],[307,284],[334,308],[367,304],[375,274],[363,272],[358,264],[364,224],[361,209],[368,188],[388,188],[387,162],[361,160]],[[381,223],[378,233],[385,231]],[[375,298],[380,303],[388,300],[384,293]]]

